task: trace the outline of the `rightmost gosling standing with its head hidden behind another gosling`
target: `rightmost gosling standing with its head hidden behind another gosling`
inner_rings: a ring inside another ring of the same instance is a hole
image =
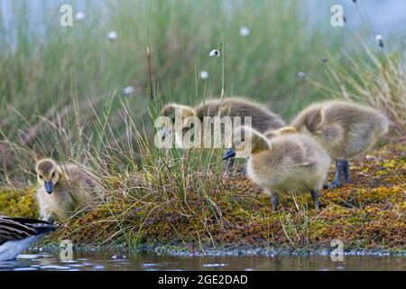
[[[349,182],[348,159],[371,148],[386,134],[388,118],[380,111],[345,101],[328,101],[305,108],[291,123],[291,130],[312,135],[331,157],[336,160],[334,181],[327,185],[333,189],[340,185],[341,177]]]

